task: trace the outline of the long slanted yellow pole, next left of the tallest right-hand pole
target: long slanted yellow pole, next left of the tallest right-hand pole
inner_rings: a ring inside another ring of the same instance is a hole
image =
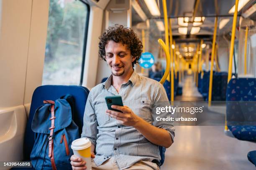
[[[213,40],[212,40],[212,56],[211,56],[211,70],[210,70],[210,80],[209,80],[209,92],[208,92],[208,105],[209,106],[211,106],[211,101],[212,101],[213,60],[214,60],[215,41],[216,41],[216,34],[217,34],[217,23],[218,23],[218,18],[215,17]]]

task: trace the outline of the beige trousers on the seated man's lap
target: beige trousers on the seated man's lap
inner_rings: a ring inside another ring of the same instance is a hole
[[[112,157],[106,160],[100,166],[95,165],[94,160],[92,159],[92,170],[119,170],[119,168],[115,158]],[[160,168],[156,165],[156,163],[141,160],[125,170],[160,170]]]

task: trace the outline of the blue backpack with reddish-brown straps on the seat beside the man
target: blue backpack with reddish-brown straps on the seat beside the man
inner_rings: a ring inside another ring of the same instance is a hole
[[[36,109],[31,128],[35,143],[30,155],[33,168],[44,170],[72,169],[71,143],[79,138],[78,126],[72,120],[73,97],[44,100]]]

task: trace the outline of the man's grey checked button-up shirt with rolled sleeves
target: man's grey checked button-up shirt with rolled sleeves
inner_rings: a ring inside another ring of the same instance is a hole
[[[82,138],[88,138],[96,146],[94,158],[97,166],[114,157],[123,170],[140,160],[160,160],[159,146],[148,141],[131,126],[125,126],[106,114],[106,96],[120,95],[123,104],[148,123],[168,131],[174,139],[173,122],[157,121],[156,107],[170,105],[160,82],[138,75],[135,71],[119,93],[111,85],[112,75],[89,93],[84,111]],[[167,117],[167,113],[161,117]],[[157,138],[157,134],[155,134]]]

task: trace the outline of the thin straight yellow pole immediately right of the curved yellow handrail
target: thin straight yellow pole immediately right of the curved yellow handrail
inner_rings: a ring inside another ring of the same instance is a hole
[[[164,2],[164,0],[163,0]],[[171,50],[171,101],[174,101],[174,70],[173,70],[173,50],[172,50],[172,20],[169,19],[169,34],[170,34],[170,50]]]

